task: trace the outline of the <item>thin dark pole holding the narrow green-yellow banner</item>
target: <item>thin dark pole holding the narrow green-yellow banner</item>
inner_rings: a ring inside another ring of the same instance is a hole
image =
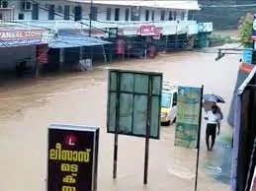
[[[202,124],[203,94],[204,94],[204,86],[202,86],[202,89],[201,89],[201,102],[200,102],[200,114],[199,114],[199,132],[198,132],[198,154],[197,154],[195,191],[198,190],[198,175],[199,175],[199,156],[200,156],[200,139],[201,139],[201,124]]]

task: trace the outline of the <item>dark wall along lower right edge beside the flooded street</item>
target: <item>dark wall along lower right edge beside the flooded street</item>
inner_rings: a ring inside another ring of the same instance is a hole
[[[250,85],[256,84],[256,77],[250,82]],[[250,87],[246,87],[241,96],[241,128],[239,135],[239,149],[238,149],[238,165],[237,165],[237,188],[236,190],[250,190],[250,183],[254,172],[255,160],[251,161],[254,149],[254,140],[256,137],[256,92]],[[253,162],[253,163],[251,163]],[[250,167],[252,164],[252,168]],[[249,175],[249,179],[248,179]]]

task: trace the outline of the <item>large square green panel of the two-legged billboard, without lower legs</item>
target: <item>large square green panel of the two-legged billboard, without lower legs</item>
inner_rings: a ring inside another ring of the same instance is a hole
[[[109,70],[109,133],[159,139],[162,74]]]

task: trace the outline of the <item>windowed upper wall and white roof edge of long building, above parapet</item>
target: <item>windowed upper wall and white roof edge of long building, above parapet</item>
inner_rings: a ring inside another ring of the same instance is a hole
[[[75,15],[88,20],[91,9],[90,0],[6,0],[2,2],[3,7],[15,9],[15,20],[72,20],[74,17],[71,16]],[[92,18],[98,21],[183,21],[188,20],[189,10],[199,10],[197,0],[93,0],[92,3]],[[59,17],[53,12],[59,14]]]

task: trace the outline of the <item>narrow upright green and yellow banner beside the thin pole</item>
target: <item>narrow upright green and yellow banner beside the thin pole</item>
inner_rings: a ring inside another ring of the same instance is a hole
[[[175,146],[197,148],[201,102],[201,88],[178,88]]]

